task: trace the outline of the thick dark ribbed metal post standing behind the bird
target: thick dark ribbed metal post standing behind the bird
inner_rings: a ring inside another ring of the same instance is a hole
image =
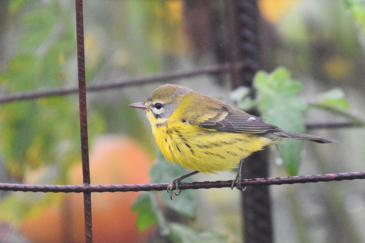
[[[260,44],[258,28],[260,12],[257,0],[231,0],[234,7],[234,20],[237,43],[235,59],[243,62],[243,69],[233,73],[232,86],[252,87],[255,73],[260,70]],[[255,92],[251,89],[251,97]],[[253,115],[260,115],[257,111],[250,111]],[[267,150],[255,152],[245,159],[242,178],[268,177]],[[242,193],[243,208],[243,238],[245,243],[273,242],[271,202],[269,187],[247,187]]]

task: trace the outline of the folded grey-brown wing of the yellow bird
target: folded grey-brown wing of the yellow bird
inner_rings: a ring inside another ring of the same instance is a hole
[[[200,128],[228,133],[271,133],[281,131],[277,126],[266,124],[262,118],[241,110],[227,111],[221,109],[214,114],[187,118],[186,121]]]

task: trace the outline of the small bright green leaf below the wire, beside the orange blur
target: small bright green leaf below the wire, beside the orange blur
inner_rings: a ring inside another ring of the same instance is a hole
[[[139,231],[144,231],[151,225],[157,225],[157,216],[153,210],[150,193],[140,193],[132,205],[132,210],[137,213],[137,228]]]

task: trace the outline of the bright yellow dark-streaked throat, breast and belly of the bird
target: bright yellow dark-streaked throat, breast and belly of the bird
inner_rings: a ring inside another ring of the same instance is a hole
[[[176,116],[155,118],[147,111],[147,117],[165,158],[203,173],[236,168],[241,158],[272,144],[268,138],[255,134],[207,130],[183,122]]]

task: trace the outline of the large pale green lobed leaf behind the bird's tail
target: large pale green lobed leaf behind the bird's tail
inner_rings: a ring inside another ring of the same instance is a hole
[[[257,90],[255,103],[266,122],[289,132],[305,132],[302,113],[307,110],[307,105],[297,98],[302,85],[290,78],[287,69],[279,67],[271,74],[258,72],[253,85]],[[298,171],[301,145],[301,141],[287,141],[280,145],[280,157],[289,175],[296,175]]]

